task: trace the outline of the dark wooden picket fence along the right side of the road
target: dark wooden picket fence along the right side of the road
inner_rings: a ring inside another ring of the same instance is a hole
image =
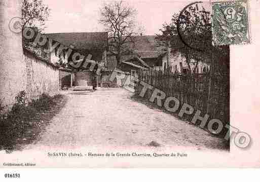
[[[201,111],[201,116],[208,114],[211,119],[219,119],[222,123],[229,123],[229,75],[228,74],[185,74],[178,72],[167,72],[151,69],[140,71],[138,79],[154,86],[166,94],[166,98],[174,96],[183,103],[188,103],[194,107],[194,111]],[[139,95],[143,86],[136,84],[135,92]],[[150,99],[153,90],[149,90],[144,95]],[[163,100],[164,104],[164,100]]]

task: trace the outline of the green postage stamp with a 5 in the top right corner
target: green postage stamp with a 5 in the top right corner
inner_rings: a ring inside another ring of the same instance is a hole
[[[211,2],[214,45],[250,43],[246,1]]]

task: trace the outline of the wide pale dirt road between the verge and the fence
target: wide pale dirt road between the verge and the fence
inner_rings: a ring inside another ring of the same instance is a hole
[[[27,149],[184,146],[222,150],[222,139],[131,98],[122,88],[66,92],[67,102]]]

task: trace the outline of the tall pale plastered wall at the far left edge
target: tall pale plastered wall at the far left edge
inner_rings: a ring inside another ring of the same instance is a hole
[[[12,106],[15,96],[26,89],[26,65],[22,37],[9,29],[14,17],[21,17],[20,0],[0,1],[0,102]]]

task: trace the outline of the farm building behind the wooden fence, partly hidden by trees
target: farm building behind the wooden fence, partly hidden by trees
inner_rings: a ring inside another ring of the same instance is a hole
[[[165,70],[167,65],[167,52],[163,46],[157,45],[156,35],[145,35],[132,37],[133,43],[125,45],[129,49],[129,54],[123,55],[121,64],[116,67],[120,70],[136,75],[139,70],[157,69]],[[178,38],[176,38],[178,39]],[[177,41],[176,41],[177,42]],[[188,72],[189,66],[186,59],[177,51],[178,45],[171,49],[170,53],[170,67],[172,72],[185,73]],[[115,62],[115,56],[110,56],[109,60]],[[203,70],[209,68],[209,61],[199,61],[196,72],[201,73]],[[115,64],[114,64],[115,65]],[[193,70],[196,66],[196,61],[191,60],[190,67]]]

